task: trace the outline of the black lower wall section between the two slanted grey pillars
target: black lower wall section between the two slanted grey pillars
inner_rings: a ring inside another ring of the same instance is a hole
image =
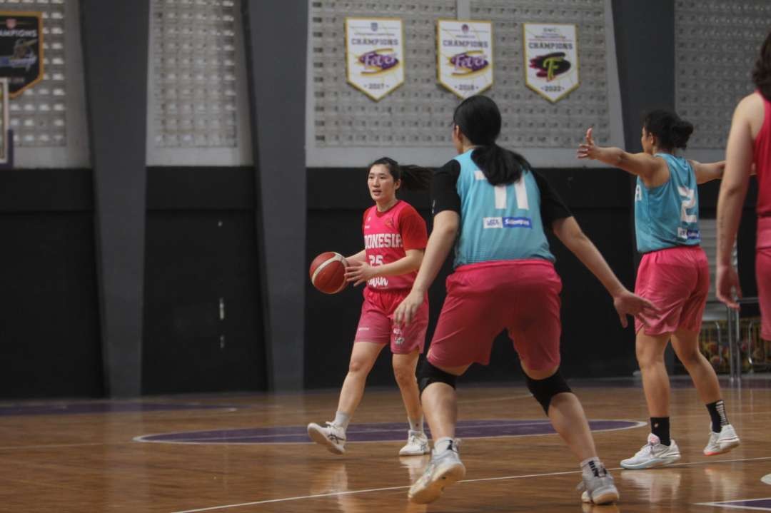
[[[147,169],[143,394],[266,387],[254,168]]]

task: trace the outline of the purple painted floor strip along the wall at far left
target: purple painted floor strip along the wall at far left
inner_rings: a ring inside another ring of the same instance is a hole
[[[111,401],[100,401],[95,403],[7,404],[5,406],[0,406],[0,417],[222,409],[235,411],[238,408],[231,404],[114,403]]]

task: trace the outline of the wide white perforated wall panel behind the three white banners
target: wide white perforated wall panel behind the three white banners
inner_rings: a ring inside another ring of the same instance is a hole
[[[576,166],[574,146],[588,126],[603,143],[623,143],[610,0],[311,0],[310,6],[308,166],[362,166],[383,154],[437,165],[453,156],[449,130],[460,100],[436,80],[436,19],[456,18],[459,8],[493,22],[496,67],[485,94],[503,113],[500,144],[539,166]],[[346,16],[404,23],[405,83],[379,102],[346,82]],[[556,104],[525,85],[522,22],[577,24],[581,86]]]

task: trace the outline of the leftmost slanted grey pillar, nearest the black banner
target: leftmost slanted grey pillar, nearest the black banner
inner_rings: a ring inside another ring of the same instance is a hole
[[[141,391],[150,2],[82,0],[80,14],[106,393],[136,396]]]

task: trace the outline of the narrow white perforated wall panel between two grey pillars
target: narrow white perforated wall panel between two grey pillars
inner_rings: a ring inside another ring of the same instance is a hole
[[[251,162],[239,13],[235,0],[151,0],[149,164]]]

